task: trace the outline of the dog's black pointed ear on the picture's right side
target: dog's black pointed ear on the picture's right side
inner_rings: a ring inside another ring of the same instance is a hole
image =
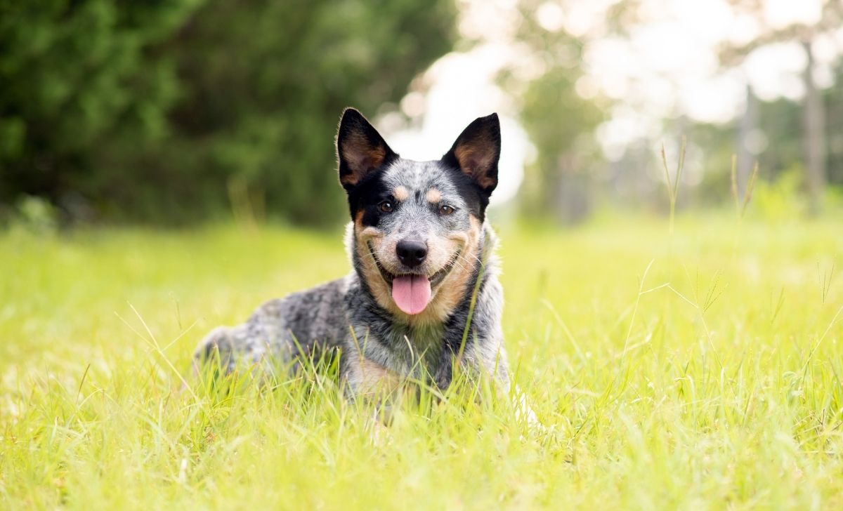
[[[478,117],[457,137],[442,159],[459,167],[486,193],[497,186],[497,161],[501,157],[501,122],[497,114]]]

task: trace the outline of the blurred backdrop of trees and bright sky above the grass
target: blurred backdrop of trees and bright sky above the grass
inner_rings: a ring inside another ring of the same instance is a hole
[[[0,221],[336,225],[347,105],[388,139],[452,136],[467,112],[501,110],[526,149],[506,160],[524,178],[497,207],[527,216],[664,213],[659,147],[673,173],[683,136],[679,208],[728,204],[734,157],[740,194],[759,162],[765,212],[839,210],[840,3],[653,4],[2,2]],[[449,58],[486,82],[437,97]],[[455,104],[469,108],[448,119]]]

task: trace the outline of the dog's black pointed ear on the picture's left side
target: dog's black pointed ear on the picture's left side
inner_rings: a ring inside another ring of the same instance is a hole
[[[336,132],[336,156],[340,161],[340,183],[346,191],[398,157],[378,130],[352,108],[342,112],[340,128]]]

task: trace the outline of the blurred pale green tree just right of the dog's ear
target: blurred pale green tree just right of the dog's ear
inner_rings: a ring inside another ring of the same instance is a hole
[[[540,19],[540,1],[523,0],[520,42],[529,46],[532,61],[520,65],[534,68],[534,79],[518,87],[518,69],[504,75],[513,94],[524,130],[537,155],[528,166],[521,188],[522,210],[570,223],[588,215],[593,200],[596,163],[601,161],[593,130],[604,120],[606,105],[600,98],[583,98],[577,80],[583,76],[583,40],[568,34],[561,25]],[[561,8],[561,7],[560,7]],[[540,72],[535,72],[540,70]]]

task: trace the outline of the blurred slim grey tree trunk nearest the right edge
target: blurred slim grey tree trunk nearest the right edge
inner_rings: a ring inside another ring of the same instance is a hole
[[[825,188],[825,110],[822,95],[813,82],[813,53],[811,41],[803,41],[808,56],[803,81],[805,104],[803,108],[803,143],[805,164],[808,166],[808,197],[812,215],[819,213]]]

